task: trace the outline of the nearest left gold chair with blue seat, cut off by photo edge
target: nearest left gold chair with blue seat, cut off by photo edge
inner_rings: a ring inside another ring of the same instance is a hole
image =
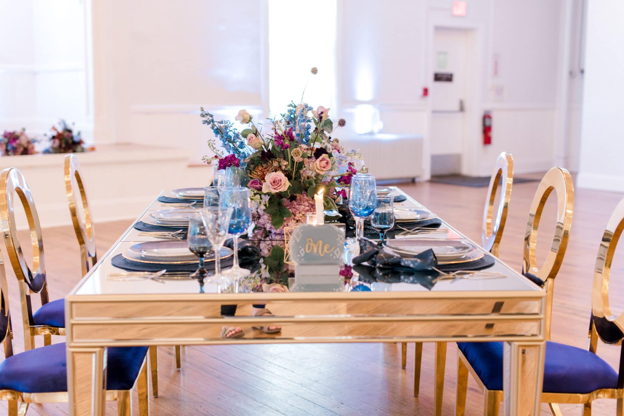
[[[7,400],[9,416],[24,416],[31,403],[67,403],[65,343],[31,349],[13,355],[11,313],[4,261],[0,254],[0,399]],[[147,347],[109,348],[106,400],[117,401],[119,415],[132,414],[132,389],[139,394],[139,414],[149,415],[147,397]],[[111,389],[114,387],[115,389]],[[117,389],[119,388],[119,389]]]

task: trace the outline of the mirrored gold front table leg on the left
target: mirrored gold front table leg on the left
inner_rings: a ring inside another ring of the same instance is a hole
[[[104,416],[104,348],[67,348],[69,415]]]

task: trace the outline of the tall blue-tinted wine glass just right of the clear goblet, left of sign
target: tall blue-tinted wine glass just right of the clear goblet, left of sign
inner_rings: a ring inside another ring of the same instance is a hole
[[[249,189],[241,186],[226,186],[221,189],[220,196],[219,204],[221,208],[232,208],[232,218],[230,218],[228,232],[234,236],[234,264],[232,268],[223,271],[223,274],[232,278],[242,278],[250,273],[248,269],[243,269],[238,264],[238,236],[244,233],[251,225]]]

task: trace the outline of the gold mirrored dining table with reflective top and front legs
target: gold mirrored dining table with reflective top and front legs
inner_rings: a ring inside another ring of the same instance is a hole
[[[401,206],[422,207],[409,196]],[[155,209],[162,209],[156,201],[139,219]],[[441,228],[446,231],[423,237],[467,239],[446,221]],[[429,289],[399,282],[371,285],[371,291],[344,291],[339,285],[337,291],[217,293],[206,284],[199,293],[194,280],[107,280],[108,273],[120,271],[112,257],[152,239],[131,226],[66,297],[71,415],[104,415],[107,347],[414,341],[504,341],[505,414],[539,412],[545,292],[499,259],[487,271],[502,278],[448,279]],[[221,316],[223,304],[238,305],[238,315]],[[252,304],[269,304],[275,316],[245,316]],[[232,325],[245,336],[220,337],[222,327]],[[281,332],[251,330],[273,325]]]

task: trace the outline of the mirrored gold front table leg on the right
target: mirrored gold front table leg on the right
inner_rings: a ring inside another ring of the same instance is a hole
[[[506,416],[537,416],[542,401],[545,343],[505,342],[503,390]]]

